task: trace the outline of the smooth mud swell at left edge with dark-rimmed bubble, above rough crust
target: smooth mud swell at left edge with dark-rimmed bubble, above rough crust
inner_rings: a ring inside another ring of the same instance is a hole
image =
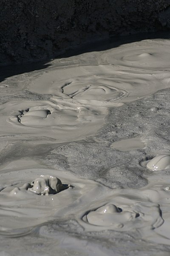
[[[0,106],[0,132],[1,136],[12,134],[20,140],[26,135],[36,140],[53,138],[58,143],[79,140],[94,135],[106,113],[105,108],[91,110],[55,101],[11,101]]]

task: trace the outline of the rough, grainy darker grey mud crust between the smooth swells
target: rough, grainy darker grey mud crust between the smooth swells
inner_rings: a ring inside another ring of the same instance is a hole
[[[160,90],[119,109],[111,108],[96,140],[91,138],[88,143],[82,141],[55,148],[44,161],[111,188],[145,186],[147,180],[142,177],[140,162],[169,152],[169,96],[170,89]],[[144,149],[122,152],[111,148],[113,142],[139,135],[146,145]],[[169,154],[165,159],[167,162],[162,165],[158,157],[154,158],[156,169],[169,170]],[[155,168],[150,169],[153,172]]]

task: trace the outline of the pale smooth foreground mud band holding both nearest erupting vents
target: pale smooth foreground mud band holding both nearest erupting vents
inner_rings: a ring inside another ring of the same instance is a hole
[[[1,234],[24,234],[47,220],[74,216],[86,231],[137,229],[150,240],[159,237],[156,229],[164,223],[161,206],[169,203],[167,186],[154,183],[141,189],[109,189],[92,180],[42,168],[31,160],[25,160],[25,166],[39,168],[11,168],[19,164],[23,162],[14,161],[1,172]],[[33,183],[30,177],[35,179]]]

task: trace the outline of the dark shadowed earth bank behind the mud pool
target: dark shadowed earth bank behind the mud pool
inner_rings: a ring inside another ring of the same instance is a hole
[[[0,9],[1,65],[51,58],[101,36],[170,28],[167,0],[3,0]]]

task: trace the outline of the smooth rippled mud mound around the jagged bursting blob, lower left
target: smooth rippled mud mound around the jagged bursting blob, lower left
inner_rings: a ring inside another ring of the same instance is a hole
[[[23,164],[39,168],[13,167]],[[54,175],[60,177],[64,184]],[[0,216],[3,218],[0,218],[0,233],[8,235],[27,233],[34,226],[47,220],[59,220],[63,215],[77,215],[87,207],[89,197],[94,201],[101,197],[100,192],[104,196],[111,193],[111,189],[94,181],[79,179],[54,169],[45,169],[31,160],[11,162],[4,169],[1,178],[3,183],[0,183]],[[31,184],[30,178],[34,179],[34,183]]]

